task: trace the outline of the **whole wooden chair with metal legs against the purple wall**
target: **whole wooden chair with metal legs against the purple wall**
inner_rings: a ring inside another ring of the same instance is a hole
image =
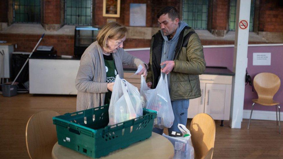
[[[253,79],[253,86],[255,87],[255,91],[257,92],[258,99],[252,99],[253,105],[252,105],[250,120],[248,121],[248,129],[251,123],[253,106],[255,105],[255,103],[257,103],[265,106],[275,106],[277,125],[278,125],[277,107],[279,108],[279,133],[281,133],[280,105],[279,105],[280,103],[273,100],[273,96],[278,91],[280,84],[281,84],[280,78],[273,73],[262,72],[255,76],[255,78]]]

